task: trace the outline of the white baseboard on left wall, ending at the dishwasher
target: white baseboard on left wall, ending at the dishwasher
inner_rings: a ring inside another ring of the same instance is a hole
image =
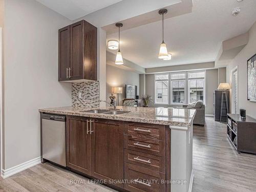
[[[30,168],[34,165],[37,165],[39,163],[41,163],[41,157],[31,159],[27,162],[21,163],[19,165],[13,166],[13,167],[8,168],[8,169],[2,169],[1,177],[5,179],[5,178],[10,177],[10,176],[12,176],[16,173],[22,172],[23,170],[25,170],[27,168]]]

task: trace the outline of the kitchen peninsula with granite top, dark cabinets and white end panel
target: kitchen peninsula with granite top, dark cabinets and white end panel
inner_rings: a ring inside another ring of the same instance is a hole
[[[66,167],[73,172],[119,191],[191,191],[195,110],[118,106],[39,112],[66,116]]]

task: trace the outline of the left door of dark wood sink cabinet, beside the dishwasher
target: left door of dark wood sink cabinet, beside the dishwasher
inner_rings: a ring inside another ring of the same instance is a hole
[[[67,166],[91,174],[91,140],[88,118],[68,116],[66,123]]]

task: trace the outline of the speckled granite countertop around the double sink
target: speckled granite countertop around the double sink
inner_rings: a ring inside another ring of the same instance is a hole
[[[129,111],[120,115],[109,114],[94,114],[88,113],[89,110],[106,109],[113,110],[113,108],[75,108],[71,106],[65,106],[60,108],[48,108],[39,109],[39,112],[52,113],[59,115],[75,115],[82,117],[102,118],[102,119],[114,119],[122,121],[133,121],[141,123],[153,123],[162,125],[173,126],[190,126],[193,121],[196,110],[191,109],[174,109],[174,108],[142,108],[133,106],[117,106],[117,110]]]

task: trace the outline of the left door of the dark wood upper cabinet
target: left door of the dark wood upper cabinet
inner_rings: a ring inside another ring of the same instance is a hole
[[[70,26],[59,29],[59,81],[69,80]]]

